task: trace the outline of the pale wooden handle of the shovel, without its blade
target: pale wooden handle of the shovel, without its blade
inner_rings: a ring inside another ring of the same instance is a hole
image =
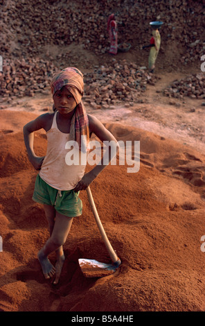
[[[103,228],[103,225],[102,225],[102,223],[100,221],[100,217],[98,215],[98,211],[96,209],[96,205],[94,203],[94,200],[93,200],[93,196],[92,196],[90,187],[87,187],[86,190],[87,190],[87,196],[88,196],[88,199],[89,199],[89,204],[91,205],[91,209],[92,209],[94,218],[96,219],[96,223],[98,225],[98,229],[99,229],[100,234],[101,234],[101,236],[103,238],[103,241],[105,242],[105,246],[106,246],[106,248],[107,248],[107,250],[109,252],[109,256],[112,259],[112,261],[114,262],[114,264],[120,265],[121,264],[121,260],[118,258],[118,256],[116,255],[116,252],[112,248],[112,245],[109,242],[109,239],[107,238],[107,235],[105,233],[105,230]]]

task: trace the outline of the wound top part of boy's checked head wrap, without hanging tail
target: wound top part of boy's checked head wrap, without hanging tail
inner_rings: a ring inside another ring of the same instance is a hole
[[[54,95],[55,92],[59,91],[64,86],[71,92],[78,105],[84,94],[82,72],[75,67],[67,67],[55,74],[51,80],[51,93]]]

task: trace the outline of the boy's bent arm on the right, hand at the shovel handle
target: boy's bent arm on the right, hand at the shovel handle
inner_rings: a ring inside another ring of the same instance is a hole
[[[107,164],[104,164],[103,157],[100,160],[99,164],[94,166],[94,168],[86,173],[82,180],[78,182],[78,185],[75,187],[74,191],[80,191],[87,189],[87,187],[91,184],[91,182],[99,175],[103,169],[109,164],[109,162],[114,158],[113,153],[117,153],[119,150],[118,142],[114,135],[112,135],[109,130],[103,126],[103,123],[101,123],[96,117],[91,116],[88,114],[89,117],[89,130],[90,132],[93,132],[101,141],[109,141],[109,147],[107,148],[108,151],[108,160]],[[113,150],[112,150],[113,148]]]

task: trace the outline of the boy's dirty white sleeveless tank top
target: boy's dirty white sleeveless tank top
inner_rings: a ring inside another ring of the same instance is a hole
[[[69,141],[69,134],[57,128],[56,115],[57,112],[54,114],[51,129],[46,132],[47,152],[39,176],[55,189],[71,190],[82,179],[87,160],[84,158],[81,162],[82,154],[78,148],[68,148],[66,143]],[[72,164],[74,160],[75,164]]]

